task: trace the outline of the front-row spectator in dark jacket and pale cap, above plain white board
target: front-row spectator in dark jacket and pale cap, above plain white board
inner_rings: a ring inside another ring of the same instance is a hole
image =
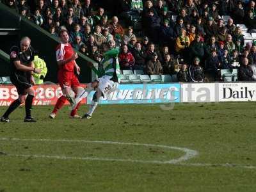
[[[189,67],[189,78],[193,82],[204,82],[204,70],[199,65],[200,59],[195,58]]]

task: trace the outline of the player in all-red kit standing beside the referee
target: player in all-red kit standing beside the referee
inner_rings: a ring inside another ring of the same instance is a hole
[[[56,47],[56,60],[59,68],[58,83],[61,86],[63,95],[57,100],[51,115],[49,115],[50,118],[55,118],[58,110],[62,108],[66,100],[68,100],[70,104],[73,104],[75,99],[73,96],[74,93],[77,95],[77,93],[83,92],[83,88],[80,86],[76,76],[76,74],[80,74],[80,68],[76,63],[78,56],[76,52],[73,51],[72,46],[68,43],[69,36],[67,30],[61,29],[59,36],[61,44]],[[78,108],[79,105],[71,111],[70,116],[72,118],[81,118],[81,116],[77,115]]]

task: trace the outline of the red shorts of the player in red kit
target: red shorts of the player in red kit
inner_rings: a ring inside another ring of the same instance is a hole
[[[80,86],[77,76],[71,71],[59,71],[58,81],[62,89],[67,86],[72,88]]]

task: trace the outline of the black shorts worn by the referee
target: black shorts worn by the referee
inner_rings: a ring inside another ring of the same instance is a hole
[[[13,85],[16,87],[19,95],[26,95],[25,90],[32,86],[28,77],[26,76],[21,76],[15,73],[10,77],[10,79]]]

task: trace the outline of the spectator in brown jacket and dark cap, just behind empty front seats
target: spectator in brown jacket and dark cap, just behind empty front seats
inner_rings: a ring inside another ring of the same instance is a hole
[[[163,74],[163,67],[161,62],[157,59],[157,53],[152,54],[151,59],[147,62],[146,72],[148,75]]]

